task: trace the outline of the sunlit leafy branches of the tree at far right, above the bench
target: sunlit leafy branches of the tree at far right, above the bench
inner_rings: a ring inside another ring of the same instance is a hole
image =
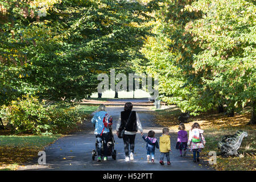
[[[193,68],[203,75],[206,97],[240,110],[256,98],[256,6],[223,0],[210,6],[198,1],[192,7],[207,13],[189,30],[203,49],[195,55]]]

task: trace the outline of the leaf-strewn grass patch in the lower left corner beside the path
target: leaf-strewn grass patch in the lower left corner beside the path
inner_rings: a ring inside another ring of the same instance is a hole
[[[0,170],[15,170],[59,137],[61,135],[0,135]]]

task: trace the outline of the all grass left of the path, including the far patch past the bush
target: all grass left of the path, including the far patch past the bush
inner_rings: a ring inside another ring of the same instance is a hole
[[[98,105],[80,105],[79,113],[84,121],[89,121],[90,114]],[[7,123],[4,122],[6,125]],[[84,125],[69,132],[84,130]],[[11,135],[10,130],[0,131],[0,170],[15,170],[23,163],[38,156],[48,144],[55,142],[61,135]]]

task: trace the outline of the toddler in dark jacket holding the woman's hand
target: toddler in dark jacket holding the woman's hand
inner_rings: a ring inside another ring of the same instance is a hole
[[[147,142],[147,146],[146,146],[147,162],[150,161],[150,155],[151,155],[151,162],[154,163],[155,162],[155,147],[159,148],[158,140],[155,138],[155,131],[153,131],[153,130],[148,131],[147,137],[145,137],[143,135],[142,138],[145,140],[145,142]]]

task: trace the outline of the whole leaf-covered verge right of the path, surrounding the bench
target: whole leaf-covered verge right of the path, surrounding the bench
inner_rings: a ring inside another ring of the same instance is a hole
[[[170,128],[171,132],[179,131],[178,117],[181,111],[176,106],[169,109],[151,111],[155,115],[156,123]],[[209,151],[216,151],[217,164],[213,167],[216,170],[256,170],[256,131],[255,125],[246,125],[250,120],[250,113],[245,110],[243,114],[236,114],[234,117],[226,117],[224,114],[218,114],[216,111],[202,113],[195,117],[191,116],[188,123],[185,123],[187,131],[193,123],[197,122],[201,129],[205,131],[204,137],[207,144],[201,152],[201,158],[209,160]],[[248,136],[243,138],[240,149],[240,157],[230,156],[222,158],[217,143],[222,140],[224,135],[233,135],[237,130],[245,130]]]

